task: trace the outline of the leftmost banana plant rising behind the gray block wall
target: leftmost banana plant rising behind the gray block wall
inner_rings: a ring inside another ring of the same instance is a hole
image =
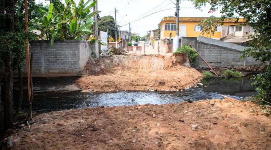
[[[39,9],[41,13],[44,13],[42,18],[36,17],[33,20],[30,20],[32,26],[30,26],[29,31],[32,32],[33,29],[41,31],[40,38],[43,39],[46,36],[46,40],[50,40],[50,45],[52,46],[55,39],[59,36],[58,30],[61,27],[61,24],[66,23],[67,20],[59,20],[61,13],[53,13],[53,4],[49,5],[49,9],[46,12],[43,9]]]

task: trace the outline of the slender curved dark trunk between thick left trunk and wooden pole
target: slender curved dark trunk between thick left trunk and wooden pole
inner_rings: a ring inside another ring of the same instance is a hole
[[[12,119],[13,123],[16,122],[16,120],[19,116],[20,109],[21,109],[22,102],[23,102],[23,70],[20,67],[18,68],[18,75],[19,75],[19,86],[20,86],[20,98],[18,101],[18,106],[16,108],[16,112],[13,115],[13,119]]]

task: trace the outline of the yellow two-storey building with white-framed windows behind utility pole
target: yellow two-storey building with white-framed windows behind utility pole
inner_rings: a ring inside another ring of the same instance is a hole
[[[179,37],[198,37],[199,35],[207,37],[206,34],[201,34],[201,30],[198,26],[199,22],[202,19],[208,19],[206,17],[180,17],[179,18]],[[226,29],[229,25],[234,25],[236,19],[234,18],[226,18],[224,20],[223,26],[217,27],[214,35],[211,35],[211,38],[219,39],[225,35],[223,35],[222,30]],[[237,24],[244,23],[244,18],[239,18]],[[170,33],[171,37],[175,38],[176,34],[176,17],[164,17],[159,23],[161,26],[160,39],[169,39]],[[210,37],[210,35],[208,35]]]

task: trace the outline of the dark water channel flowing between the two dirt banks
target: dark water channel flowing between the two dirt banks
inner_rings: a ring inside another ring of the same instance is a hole
[[[202,88],[188,89],[178,92],[152,92],[152,91],[118,91],[118,92],[99,92],[83,93],[73,92],[42,92],[34,93],[33,110],[36,113],[46,113],[51,111],[106,106],[121,106],[135,104],[169,104],[179,103],[188,99],[198,101],[206,99],[223,99],[220,94],[231,95],[234,98],[255,94],[249,78],[243,79],[216,79],[203,80],[207,85]],[[26,94],[25,94],[26,95]],[[17,95],[14,95],[15,97]],[[27,100],[24,99],[23,110],[27,108]]]

